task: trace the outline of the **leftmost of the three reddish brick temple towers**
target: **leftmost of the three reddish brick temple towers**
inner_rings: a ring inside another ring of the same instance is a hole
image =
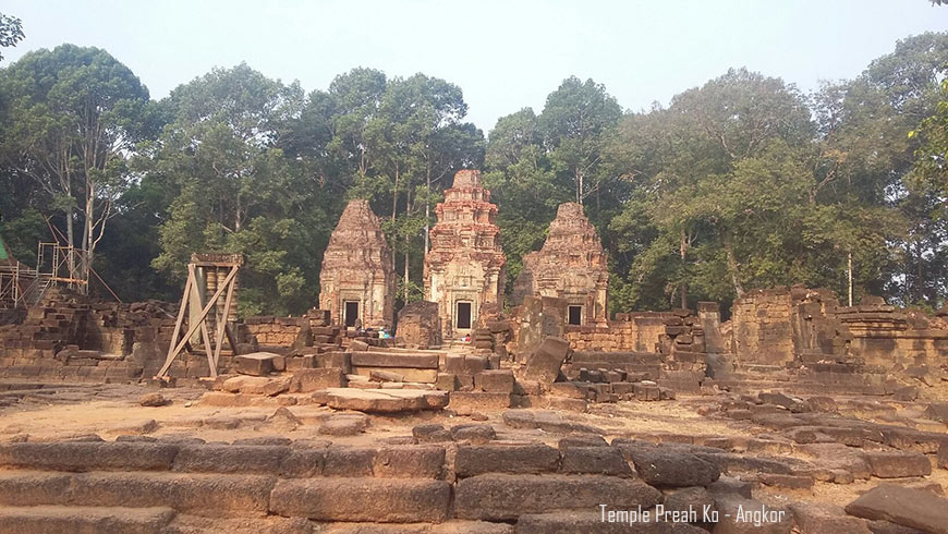
[[[392,327],[396,277],[391,258],[368,201],[351,201],[329,238],[319,271],[319,303],[333,324]]]

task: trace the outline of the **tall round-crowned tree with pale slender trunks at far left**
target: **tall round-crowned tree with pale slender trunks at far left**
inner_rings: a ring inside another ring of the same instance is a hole
[[[127,157],[149,123],[148,89],[105,50],[74,45],[27,53],[2,72],[0,87],[9,98],[5,162],[49,195],[65,216],[69,244],[90,263],[129,184]]]

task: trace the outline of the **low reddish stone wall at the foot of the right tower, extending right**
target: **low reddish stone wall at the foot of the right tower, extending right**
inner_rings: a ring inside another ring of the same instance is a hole
[[[575,351],[659,352],[665,319],[670,312],[616,314],[606,327],[567,326],[566,339]]]

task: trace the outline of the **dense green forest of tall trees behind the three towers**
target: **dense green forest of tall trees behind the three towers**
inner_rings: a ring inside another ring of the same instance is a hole
[[[307,93],[239,64],[154,100],[102,49],[0,64],[4,242],[32,266],[61,232],[125,302],[179,300],[191,253],[220,251],[246,258],[241,315],[304,312],[351,198],[385,221],[397,308],[422,300],[426,229],[462,168],[483,170],[499,208],[508,293],[557,206],[580,202],[608,254],[612,313],[727,310],[793,283],[844,301],[850,272],[856,301],[933,310],[948,296],[948,33],[810,94],[731,69],[633,111],[568,77],[486,133],[465,121],[461,87],[422,73],[358,68]]]

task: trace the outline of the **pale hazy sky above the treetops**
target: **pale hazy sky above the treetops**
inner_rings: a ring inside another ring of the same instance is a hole
[[[24,52],[62,43],[107,49],[161,98],[212,66],[251,66],[309,92],[354,66],[459,85],[484,129],[543,109],[569,76],[622,107],[667,105],[730,66],[795,83],[850,78],[896,40],[948,31],[927,0],[138,1],[3,0]]]

